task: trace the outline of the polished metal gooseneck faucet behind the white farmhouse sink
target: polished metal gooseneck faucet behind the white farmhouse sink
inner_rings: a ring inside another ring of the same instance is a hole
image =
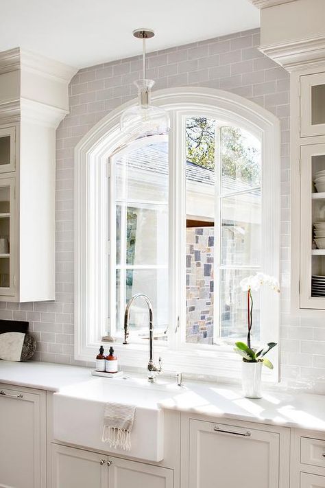
[[[129,336],[129,320],[130,320],[130,308],[134,300],[138,298],[143,298],[145,303],[147,304],[148,311],[149,311],[149,362],[148,362],[148,380],[149,382],[154,382],[156,380],[156,373],[161,372],[161,358],[159,358],[159,366],[154,364],[154,310],[152,307],[152,303],[144,293],[136,293],[133,295],[132,298],[128,301],[125,307],[124,313],[124,342],[123,344],[128,344],[128,336]]]

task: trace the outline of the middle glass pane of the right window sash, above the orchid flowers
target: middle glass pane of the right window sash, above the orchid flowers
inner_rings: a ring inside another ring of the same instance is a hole
[[[221,264],[261,264],[261,191],[222,198]]]

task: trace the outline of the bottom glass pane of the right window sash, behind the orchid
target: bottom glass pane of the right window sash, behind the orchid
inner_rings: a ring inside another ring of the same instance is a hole
[[[247,294],[241,290],[243,278],[254,275],[256,270],[221,270],[221,338],[235,340],[247,339]],[[252,340],[260,340],[260,297],[259,292],[252,292],[253,327]]]

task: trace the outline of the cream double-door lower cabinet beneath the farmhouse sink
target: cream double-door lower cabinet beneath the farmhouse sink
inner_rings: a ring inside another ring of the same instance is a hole
[[[51,488],[173,488],[173,469],[51,445]]]

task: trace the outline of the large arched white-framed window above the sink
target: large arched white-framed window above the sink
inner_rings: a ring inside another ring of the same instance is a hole
[[[153,100],[170,113],[168,136],[130,143],[122,107],[75,150],[75,358],[93,360],[109,337],[123,364],[145,368],[141,299],[122,345],[125,305],[145,293],[165,371],[236,376],[232,345],[246,335],[239,282],[279,272],[278,120],[213,89]],[[262,290],[254,299],[254,342],[276,341],[278,297]]]

